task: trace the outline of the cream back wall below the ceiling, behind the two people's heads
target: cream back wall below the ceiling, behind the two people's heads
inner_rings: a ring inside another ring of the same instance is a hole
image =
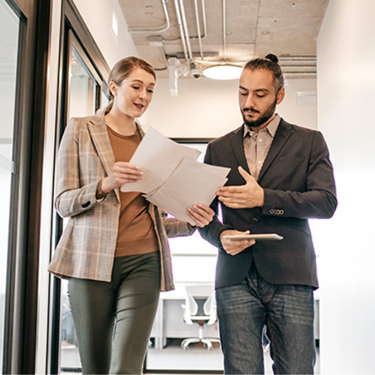
[[[286,97],[277,111],[289,122],[317,128],[316,104],[297,105],[297,92],[316,92],[315,79],[291,79]],[[178,97],[169,94],[169,80],[159,79],[153,101],[142,116],[165,136],[174,138],[216,138],[242,124],[238,104],[238,81],[180,79]]]

